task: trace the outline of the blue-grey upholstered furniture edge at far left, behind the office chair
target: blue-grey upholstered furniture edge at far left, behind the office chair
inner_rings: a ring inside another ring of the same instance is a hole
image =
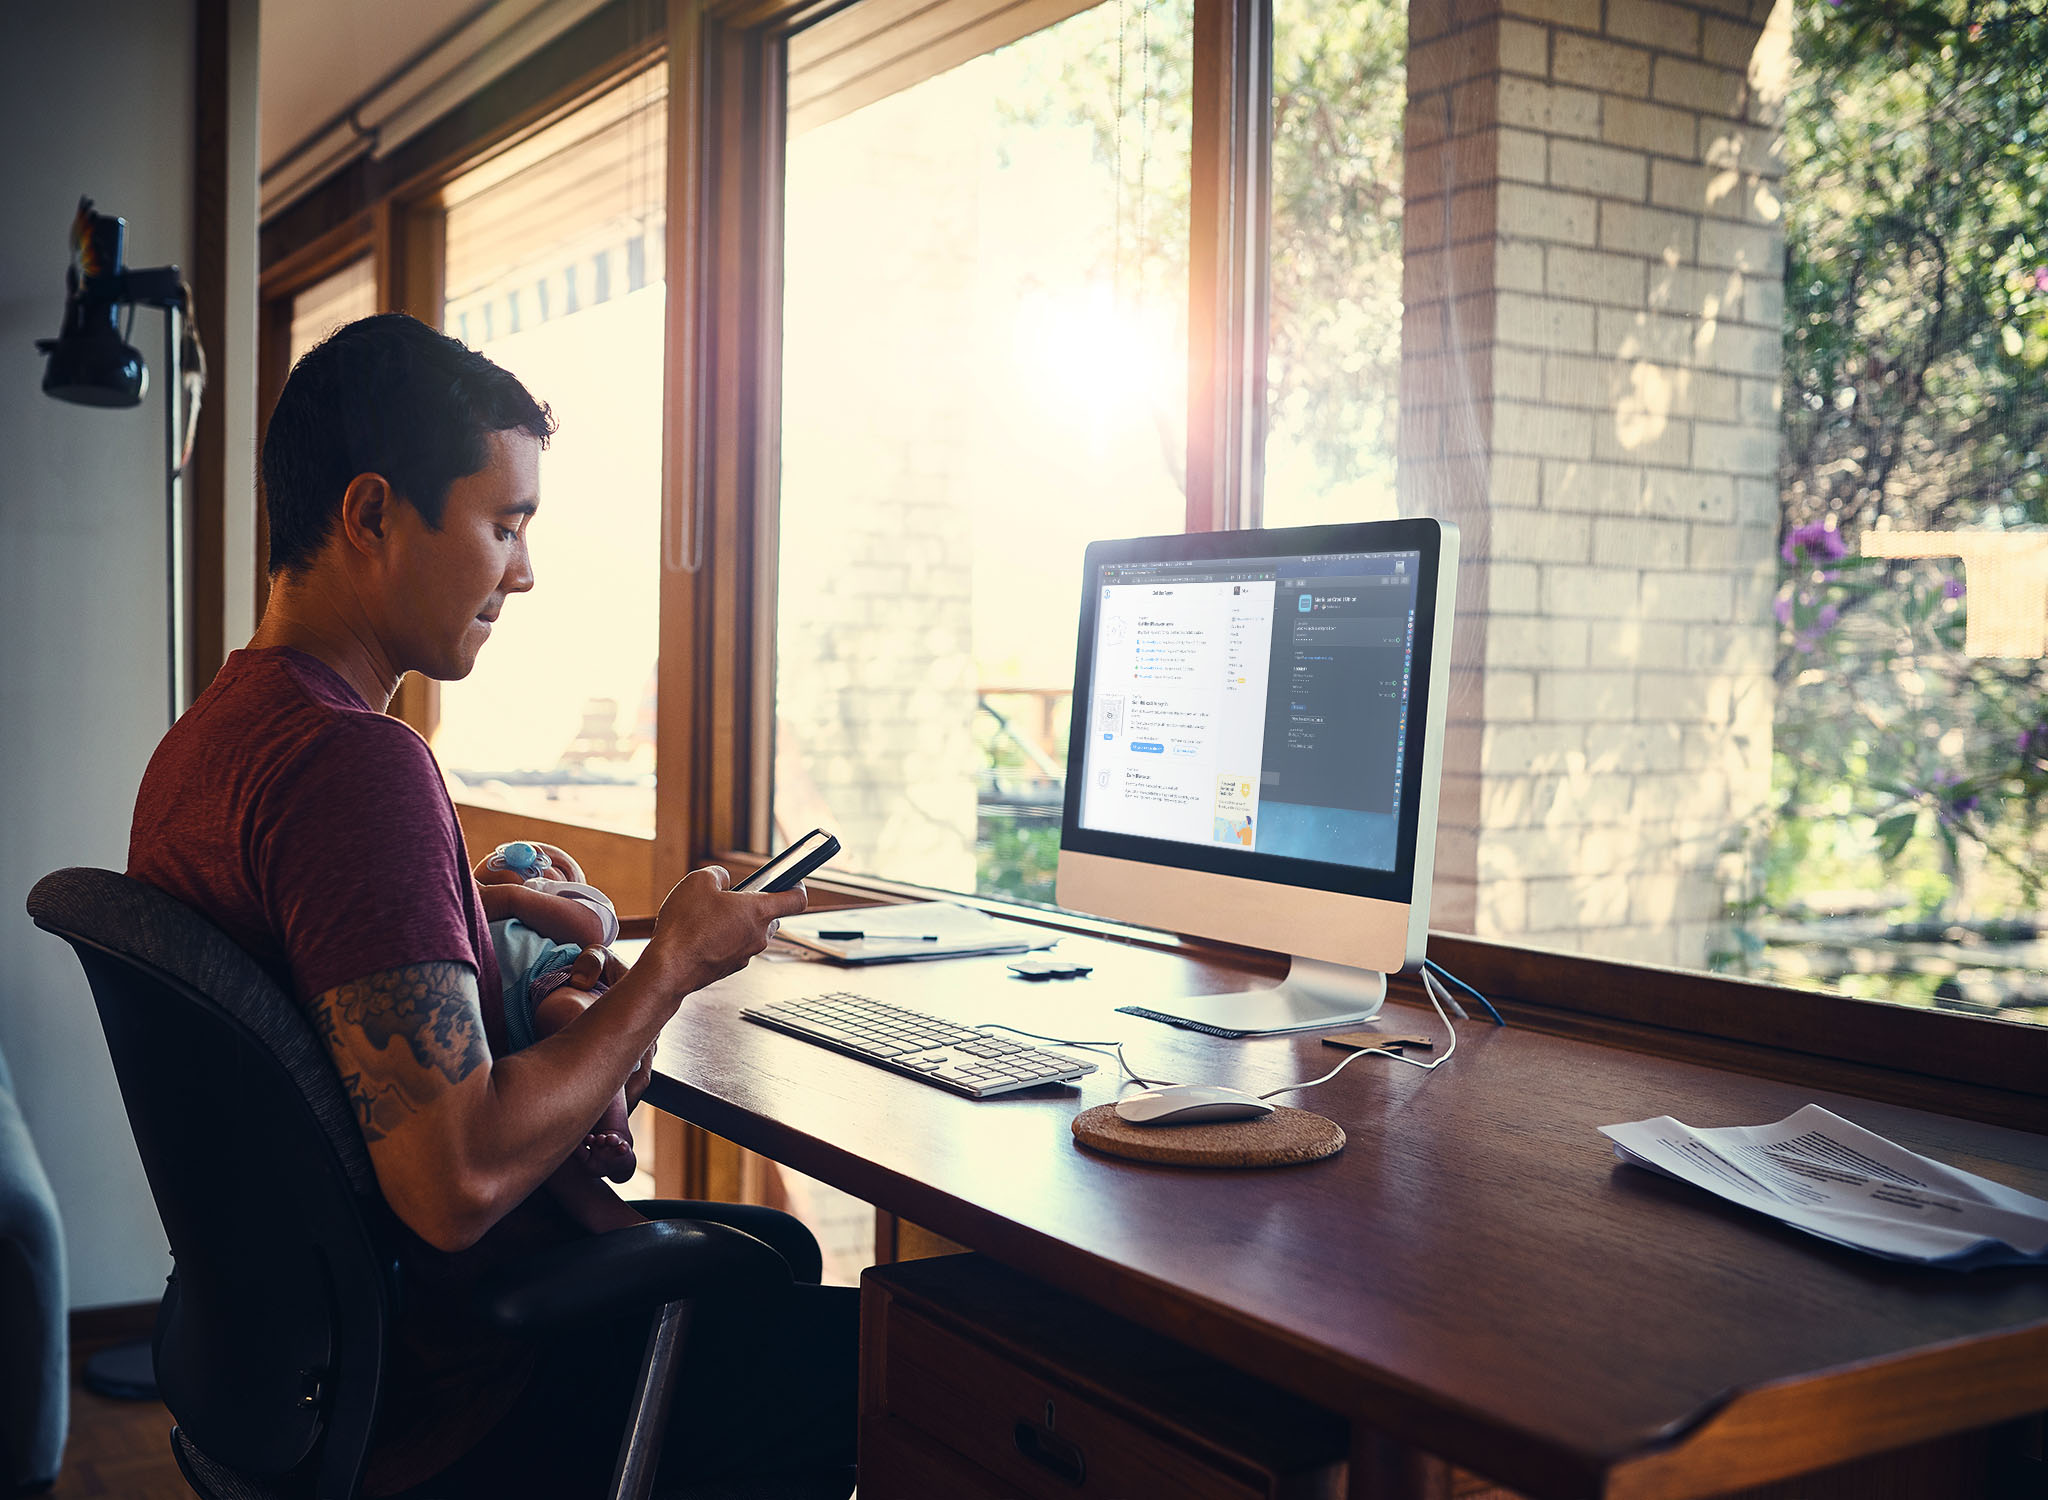
[[[0,1057],[0,1492],[57,1477],[70,1420],[70,1295],[49,1176]]]

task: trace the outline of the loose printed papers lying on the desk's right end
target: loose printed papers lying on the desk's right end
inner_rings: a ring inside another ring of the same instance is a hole
[[[1819,1105],[1776,1125],[1694,1129],[1669,1115],[1602,1125],[1614,1154],[1890,1260],[2048,1260],[2048,1203],[1894,1145]]]

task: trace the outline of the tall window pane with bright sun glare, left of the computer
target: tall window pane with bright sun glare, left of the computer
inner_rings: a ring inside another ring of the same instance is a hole
[[[1190,35],[1108,4],[793,117],[778,842],[1051,900],[1081,549],[1186,516]]]

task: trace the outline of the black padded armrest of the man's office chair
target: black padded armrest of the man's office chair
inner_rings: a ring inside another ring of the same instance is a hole
[[[698,1219],[653,1219],[524,1256],[485,1277],[477,1305],[494,1328],[532,1336],[713,1291],[788,1285],[788,1262],[752,1234]]]

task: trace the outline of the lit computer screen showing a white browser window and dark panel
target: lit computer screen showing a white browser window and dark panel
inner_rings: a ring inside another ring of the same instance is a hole
[[[1079,826],[1391,871],[1421,553],[1096,568]]]

